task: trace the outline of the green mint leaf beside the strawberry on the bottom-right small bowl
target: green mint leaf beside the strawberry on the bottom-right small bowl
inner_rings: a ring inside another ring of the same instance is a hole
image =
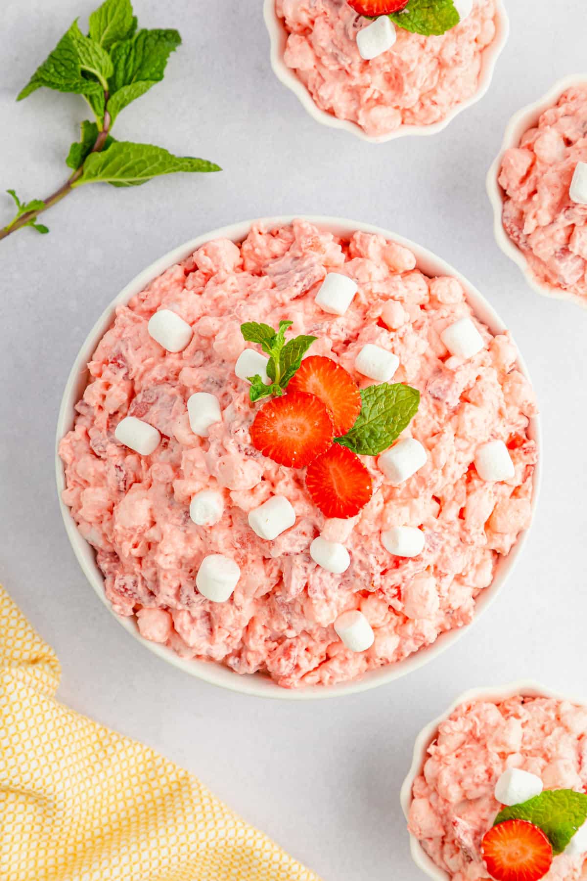
[[[504,808],[494,825],[514,819],[539,826],[550,840],[554,854],[561,854],[587,820],[587,795],[573,789],[547,789],[527,802]]]

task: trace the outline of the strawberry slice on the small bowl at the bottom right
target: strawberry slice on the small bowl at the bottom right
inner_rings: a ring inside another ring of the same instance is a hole
[[[526,820],[506,820],[489,829],[481,854],[495,881],[539,881],[553,862],[547,836]]]

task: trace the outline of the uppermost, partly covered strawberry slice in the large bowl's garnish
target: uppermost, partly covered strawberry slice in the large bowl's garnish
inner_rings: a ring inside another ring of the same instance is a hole
[[[288,391],[305,391],[319,397],[332,413],[334,437],[346,434],[361,412],[361,392],[353,377],[330,358],[312,355],[290,381]]]

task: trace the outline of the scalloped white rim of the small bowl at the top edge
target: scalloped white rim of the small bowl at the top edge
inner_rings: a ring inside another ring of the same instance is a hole
[[[363,141],[371,141],[371,144],[384,144],[386,141],[393,141],[396,137],[405,137],[406,135],[428,136],[436,135],[438,131],[442,131],[451,122],[455,116],[459,115],[466,107],[472,107],[483,95],[488,91],[491,80],[495,71],[495,63],[500,56],[510,34],[510,19],[505,11],[503,0],[496,0],[497,8],[497,29],[495,39],[490,46],[483,50],[483,62],[479,74],[479,87],[472,98],[453,107],[451,112],[440,122],[433,122],[431,125],[400,125],[399,129],[390,132],[388,135],[367,135],[360,125],[356,122],[350,122],[346,119],[338,119],[333,114],[327,113],[326,110],[320,110],[315,104],[312,95],[306,89],[304,83],[297,77],[294,70],[283,61],[283,53],[285,44],[288,39],[288,32],[285,30],[282,20],[278,18],[275,11],[275,0],[265,0],[263,15],[265,24],[269,32],[271,41],[271,67],[275,72],[275,76],[281,80],[283,85],[287,85],[291,91],[297,95],[304,105],[308,113],[314,117],[317,122],[330,126],[331,129],[342,129],[349,131],[352,135],[360,137]]]

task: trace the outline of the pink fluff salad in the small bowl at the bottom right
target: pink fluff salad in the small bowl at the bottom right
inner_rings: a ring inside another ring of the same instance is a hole
[[[510,767],[542,778],[546,789],[587,789],[587,707],[524,698],[462,704],[442,722],[416,778],[410,832],[452,881],[489,878],[481,839],[502,805],[495,783]],[[544,881],[577,881],[583,856],[561,854]]]

